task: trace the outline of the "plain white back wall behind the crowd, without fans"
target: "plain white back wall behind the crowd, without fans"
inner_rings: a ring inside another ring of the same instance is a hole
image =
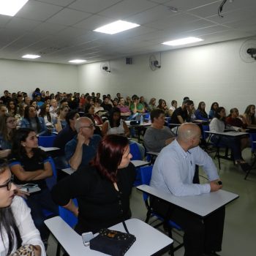
[[[0,60],[0,94],[5,89],[10,92],[26,91],[31,94],[39,87],[41,90],[78,90],[78,67],[65,64],[48,64],[35,61]]]

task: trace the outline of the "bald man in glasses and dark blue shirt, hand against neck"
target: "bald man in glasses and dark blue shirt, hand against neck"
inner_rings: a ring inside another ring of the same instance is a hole
[[[101,137],[94,135],[94,124],[88,117],[80,117],[75,121],[78,135],[65,146],[66,159],[72,169],[87,165],[95,156]]]

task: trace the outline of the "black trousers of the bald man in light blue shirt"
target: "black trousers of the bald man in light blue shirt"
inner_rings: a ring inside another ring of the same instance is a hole
[[[203,252],[222,250],[225,206],[204,219],[181,208],[174,208],[170,219],[184,230],[186,256],[200,256]]]

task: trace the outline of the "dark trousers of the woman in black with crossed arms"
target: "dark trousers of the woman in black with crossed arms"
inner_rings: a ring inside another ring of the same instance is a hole
[[[31,208],[31,217],[34,220],[34,225],[39,230],[42,241],[48,240],[49,230],[45,226],[45,214],[42,209],[46,209],[53,213],[53,215],[59,215],[59,208],[53,202],[48,188],[42,189],[40,192],[29,195],[27,200],[28,206]]]

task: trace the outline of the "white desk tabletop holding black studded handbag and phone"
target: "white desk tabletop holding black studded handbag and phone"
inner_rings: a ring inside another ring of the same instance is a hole
[[[173,240],[163,233],[156,230],[154,227],[146,224],[140,219],[128,219],[126,222],[129,233],[136,236],[136,241],[129,248],[126,256],[148,256],[154,255],[161,249],[170,246]],[[84,246],[82,237],[72,230],[61,217],[53,217],[45,220],[45,225],[49,228],[53,236],[59,241],[61,246],[67,251],[70,256],[99,256],[105,255],[101,252],[91,250],[89,246]],[[122,223],[110,227],[110,229],[124,231]]]

